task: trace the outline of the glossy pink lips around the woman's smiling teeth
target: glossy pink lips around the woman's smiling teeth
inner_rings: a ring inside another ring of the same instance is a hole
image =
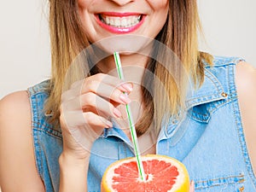
[[[111,17],[125,17],[125,16],[131,16],[131,15],[141,15],[137,13],[117,13],[117,12],[108,12],[108,13],[101,13],[101,15],[111,16]],[[143,21],[145,19],[145,16],[142,15],[142,19],[137,23],[135,26],[129,26],[129,27],[116,27],[116,26],[110,26],[100,19],[99,14],[96,15],[96,21],[97,23],[102,26],[104,29],[106,29],[108,32],[118,33],[118,34],[124,34],[128,32],[134,32],[137,30],[139,26],[143,24]]]

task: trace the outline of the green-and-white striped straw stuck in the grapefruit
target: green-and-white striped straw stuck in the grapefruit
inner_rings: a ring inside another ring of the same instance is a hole
[[[113,57],[114,57],[115,65],[116,65],[116,68],[117,68],[117,72],[119,74],[119,79],[125,80],[124,73],[123,73],[123,70],[122,70],[122,65],[121,65],[119,52],[114,52]],[[127,93],[125,93],[125,95],[127,95]],[[129,125],[130,125],[131,140],[132,140],[132,143],[133,143],[133,148],[134,148],[134,152],[135,152],[135,156],[136,156],[136,160],[137,160],[137,168],[138,168],[141,179],[143,181],[146,181],[145,172],[144,172],[144,168],[143,168],[143,161],[142,161],[140,151],[139,151],[139,148],[138,148],[137,134],[136,134],[135,125],[134,125],[134,122],[133,122],[133,119],[132,119],[130,105],[126,104],[125,108],[126,108],[126,113],[127,113]]]

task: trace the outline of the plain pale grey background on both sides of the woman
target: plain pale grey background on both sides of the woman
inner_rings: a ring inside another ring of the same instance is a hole
[[[256,67],[256,1],[200,0],[213,55],[241,56]],[[47,0],[4,1],[0,6],[0,98],[49,78]]]

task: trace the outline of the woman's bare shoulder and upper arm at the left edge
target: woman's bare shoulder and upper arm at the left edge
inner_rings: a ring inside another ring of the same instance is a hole
[[[3,189],[44,191],[34,162],[31,109],[26,90],[1,99],[0,133],[0,183],[3,183]],[[27,177],[23,176],[24,172]]]

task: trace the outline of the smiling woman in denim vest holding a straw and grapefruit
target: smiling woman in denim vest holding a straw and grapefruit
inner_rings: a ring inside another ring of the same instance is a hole
[[[0,103],[3,192],[100,191],[106,167],[133,155],[122,120],[124,104],[131,101],[138,103],[131,106],[137,135],[153,137],[143,154],[183,161],[195,191],[256,189],[256,72],[240,58],[212,60],[199,52],[195,0],[51,0],[49,5],[52,77]],[[129,79],[123,82],[113,74],[113,56],[90,66],[91,55],[113,48],[110,41],[86,49],[85,69],[71,64],[90,44],[128,34],[160,41],[178,61],[160,63],[166,49],[146,41],[138,49],[145,55],[121,54]]]

